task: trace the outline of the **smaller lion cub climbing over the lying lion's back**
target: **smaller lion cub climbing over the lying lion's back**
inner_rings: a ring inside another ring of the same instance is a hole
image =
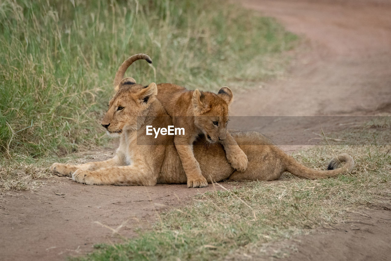
[[[157,97],[172,117],[174,126],[185,129],[185,135],[176,135],[174,143],[187,176],[187,187],[208,185],[193,154],[193,142],[200,134],[204,134],[208,142],[224,146],[227,160],[234,169],[246,170],[247,156],[226,130],[228,106],[233,101],[230,88],[222,87],[214,94],[162,83],[158,85]]]

